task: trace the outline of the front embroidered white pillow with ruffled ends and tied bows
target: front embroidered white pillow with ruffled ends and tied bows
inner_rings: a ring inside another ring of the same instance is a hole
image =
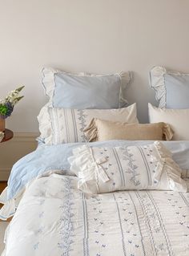
[[[79,178],[78,189],[86,193],[156,189],[186,192],[179,165],[159,141],[146,146],[74,148],[70,170]]]

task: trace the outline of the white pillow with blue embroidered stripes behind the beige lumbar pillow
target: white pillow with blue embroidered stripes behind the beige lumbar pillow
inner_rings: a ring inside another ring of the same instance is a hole
[[[116,109],[66,109],[43,107],[38,115],[39,131],[46,144],[86,142],[83,132],[93,118],[139,123],[136,104]]]

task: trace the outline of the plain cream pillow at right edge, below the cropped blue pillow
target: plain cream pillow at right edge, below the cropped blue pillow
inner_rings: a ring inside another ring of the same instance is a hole
[[[189,140],[189,108],[156,108],[148,104],[150,123],[166,122],[174,132],[172,140]]]

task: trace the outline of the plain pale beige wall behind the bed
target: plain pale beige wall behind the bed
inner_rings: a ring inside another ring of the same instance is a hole
[[[0,0],[0,98],[25,85],[25,98],[7,119],[14,132],[38,132],[46,97],[44,66],[65,71],[134,71],[127,89],[147,121],[155,104],[152,66],[189,72],[188,0]]]

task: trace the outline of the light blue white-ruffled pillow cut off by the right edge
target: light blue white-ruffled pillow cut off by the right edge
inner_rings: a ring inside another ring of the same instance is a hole
[[[189,108],[189,74],[153,67],[150,83],[159,101],[159,108]]]

